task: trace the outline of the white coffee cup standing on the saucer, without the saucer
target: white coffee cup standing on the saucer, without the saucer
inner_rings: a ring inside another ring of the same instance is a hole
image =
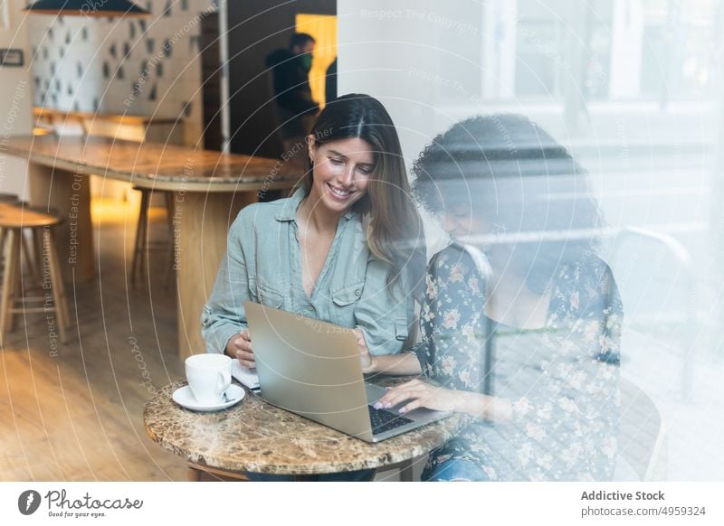
[[[218,404],[232,383],[232,359],[214,353],[189,356],[186,380],[197,402],[209,406]]]

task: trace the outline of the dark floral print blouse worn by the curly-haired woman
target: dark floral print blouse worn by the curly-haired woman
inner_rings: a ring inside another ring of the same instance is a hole
[[[593,255],[562,264],[545,326],[521,330],[483,314],[485,283],[474,261],[457,245],[431,261],[423,340],[414,352],[424,374],[443,387],[483,392],[485,386],[510,399],[512,416],[495,424],[472,420],[433,451],[424,479],[460,459],[477,465],[487,480],[610,480],[623,322],[611,270]]]

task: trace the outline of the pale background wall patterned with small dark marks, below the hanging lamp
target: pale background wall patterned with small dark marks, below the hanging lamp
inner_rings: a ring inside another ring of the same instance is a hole
[[[31,16],[33,103],[62,110],[183,116],[187,127],[200,131],[201,21],[214,10],[214,0],[137,3],[151,16]]]

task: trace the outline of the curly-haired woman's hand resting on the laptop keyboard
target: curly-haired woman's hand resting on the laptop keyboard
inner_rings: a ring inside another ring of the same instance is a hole
[[[375,404],[375,409],[390,409],[397,404],[410,400],[400,413],[417,408],[437,411],[460,411],[464,403],[465,392],[435,387],[421,380],[412,380],[388,390]]]

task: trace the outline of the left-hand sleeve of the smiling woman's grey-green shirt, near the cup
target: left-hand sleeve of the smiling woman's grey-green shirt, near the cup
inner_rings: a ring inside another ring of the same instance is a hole
[[[233,221],[214,289],[204,305],[201,332],[206,352],[224,352],[229,339],[247,327],[243,302],[256,301],[252,297],[243,243],[244,232],[249,234],[252,225],[245,224],[245,215],[242,211]]]

